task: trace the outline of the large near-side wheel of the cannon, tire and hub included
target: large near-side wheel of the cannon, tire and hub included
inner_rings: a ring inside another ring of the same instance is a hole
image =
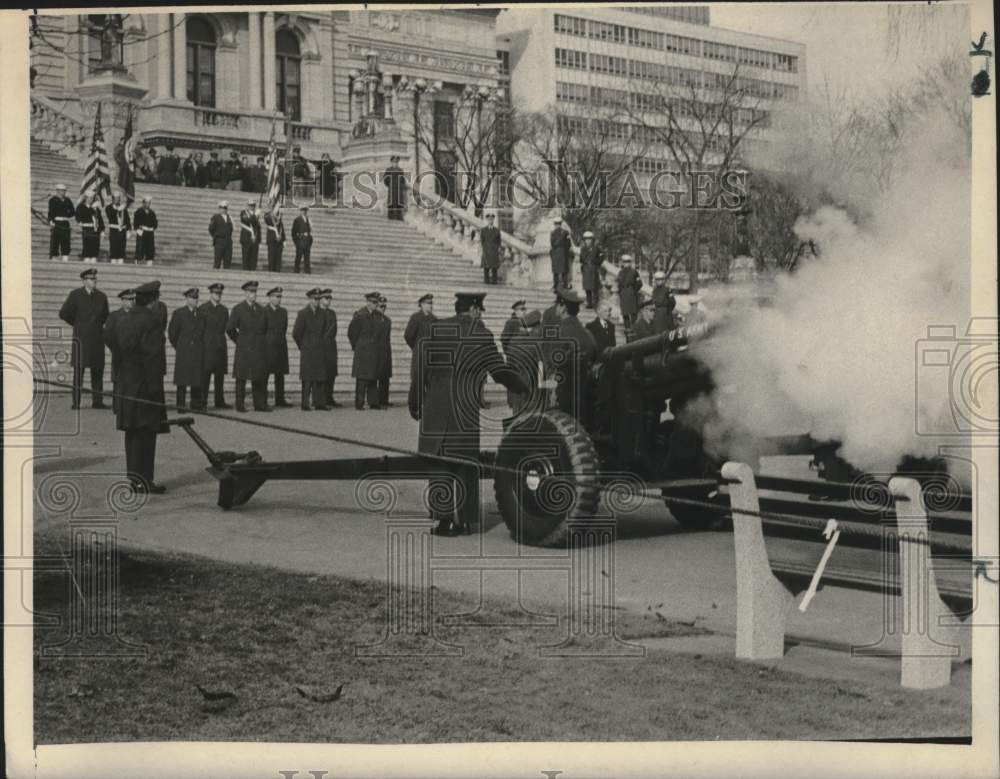
[[[565,544],[569,522],[597,512],[597,450],[573,417],[545,411],[519,421],[497,451],[493,488],[518,543]]]

